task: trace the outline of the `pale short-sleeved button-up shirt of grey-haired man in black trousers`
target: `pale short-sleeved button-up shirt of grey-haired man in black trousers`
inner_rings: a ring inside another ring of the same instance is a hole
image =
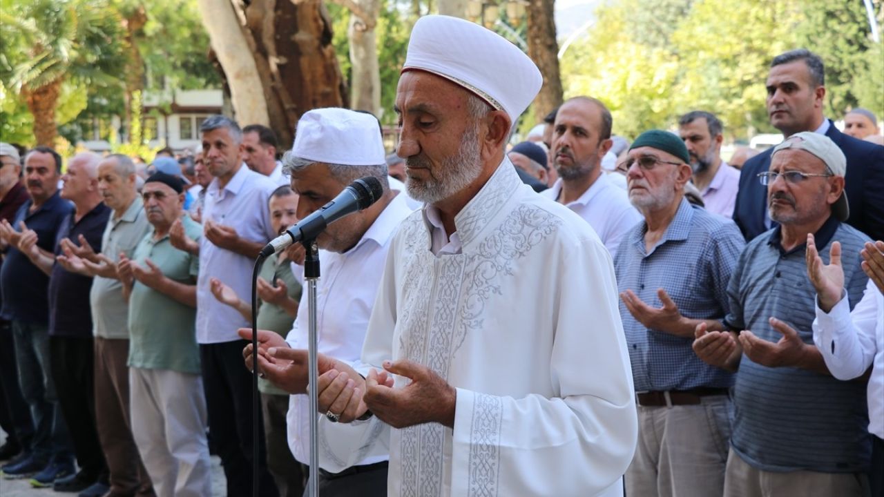
[[[267,207],[276,185],[266,176],[240,165],[223,189],[217,178],[206,188],[202,222],[230,226],[240,238],[266,243],[277,233]],[[196,340],[201,344],[240,340],[237,328],[249,326],[245,317],[218,302],[209,287],[210,278],[224,282],[238,295],[250,295],[255,261],[236,252],[218,248],[209,238],[200,238],[200,276],[196,283]]]

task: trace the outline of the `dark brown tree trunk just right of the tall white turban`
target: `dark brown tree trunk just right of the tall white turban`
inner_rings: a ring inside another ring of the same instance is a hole
[[[528,56],[544,76],[544,86],[534,99],[537,122],[561,105],[559,43],[555,39],[554,0],[530,0],[528,4]]]

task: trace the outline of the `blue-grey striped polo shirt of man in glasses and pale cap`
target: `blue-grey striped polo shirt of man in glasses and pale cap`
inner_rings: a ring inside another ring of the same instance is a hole
[[[859,250],[869,238],[829,218],[815,234],[828,264],[829,243],[840,241],[844,287],[850,309],[863,296],[868,277]],[[813,345],[816,291],[807,277],[804,245],[783,251],[780,227],[752,240],[740,256],[728,287],[727,325],[776,342],[768,323],[777,317]],[[736,375],[731,446],[743,461],[766,471],[857,472],[869,464],[870,440],[865,384],[840,381],[799,368],[768,368],[743,354]]]

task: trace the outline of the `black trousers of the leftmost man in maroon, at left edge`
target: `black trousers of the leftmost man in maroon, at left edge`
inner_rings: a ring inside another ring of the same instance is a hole
[[[0,428],[6,432],[7,442],[30,450],[34,423],[31,409],[21,394],[15,340],[8,321],[0,321]]]

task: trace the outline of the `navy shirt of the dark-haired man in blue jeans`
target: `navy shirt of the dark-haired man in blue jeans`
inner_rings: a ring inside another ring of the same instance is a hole
[[[37,233],[37,246],[51,252],[62,221],[73,211],[73,205],[58,192],[39,209],[29,212],[34,201],[28,200],[16,212],[11,224],[19,230],[19,221]],[[46,294],[50,277],[31,263],[18,248],[6,249],[3,268],[0,269],[0,287],[3,288],[3,310],[0,317],[38,325],[48,325],[50,304]]]

